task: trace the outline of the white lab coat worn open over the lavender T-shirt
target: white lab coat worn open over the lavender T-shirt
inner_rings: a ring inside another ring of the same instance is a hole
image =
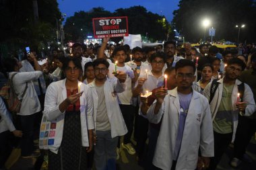
[[[155,105],[156,101],[148,110],[148,120],[157,124],[162,116],[163,118],[153,164],[161,169],[170,170],[179,128],[180,103],[177,88],[168,91],[158,114],[154,114]],[[193,90],[176,170],[193,170],[197,167],[199,146],[203,157],[214,156],[213,132],[208,101]]]

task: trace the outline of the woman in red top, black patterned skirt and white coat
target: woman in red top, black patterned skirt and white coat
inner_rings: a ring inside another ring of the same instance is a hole
[[[79,59],[66,58],[62,68],[66,79],[51,83],[45,95],[43,114],[55,129],[50,134],[54,142],[49,145],[49,170],[87,169],[86,155],[93,146],[92,91],[78,81]]]

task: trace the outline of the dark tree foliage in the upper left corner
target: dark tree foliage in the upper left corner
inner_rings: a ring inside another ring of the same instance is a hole
[[[38,22],[34,21],[33,0],[2,0],[0,2],[0,44],[9,50],[32,46],[41,50],[56,36],[61,12],[56,0],[40,0]]]

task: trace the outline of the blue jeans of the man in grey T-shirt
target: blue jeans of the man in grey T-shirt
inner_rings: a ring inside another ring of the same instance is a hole
[[[96,131],[97,142],[94,147],[94,165],[97,170],[115,170],[118,136],[111,137],[111,131]]]

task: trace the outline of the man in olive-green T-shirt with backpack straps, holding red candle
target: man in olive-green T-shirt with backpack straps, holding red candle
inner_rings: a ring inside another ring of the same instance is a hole
[[[238,114],[250,116],[255,112],[255,101],[249,85],[237,79],[245,67],[245,63],[239,58],[228,60],[225,77],[215,84],[215,93],[211,94],[214,92],[214,85],[212,85],[214,81],[209,83],[203,91],[203,95],[209,101],[212,100],[210,109],[214,127],[214,157],[210,162],[209,169],[211,170],[216,169],[228,144],[234,138]],[[241,92],[239,89],[244,89],[244,91]],[[243,93],[240,99],[238,92]]]

